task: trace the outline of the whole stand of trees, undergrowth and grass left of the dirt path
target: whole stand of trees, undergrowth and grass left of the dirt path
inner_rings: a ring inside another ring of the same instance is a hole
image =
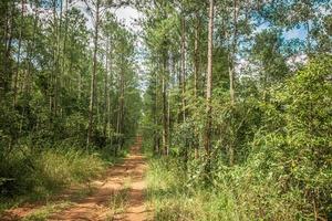
[[[135,136],[135,36],[102,1],[0,3],[0,194],[100,175]],[[84,9],[84,8],[83,8]],[[87,18],[93,18],[86,25]]]

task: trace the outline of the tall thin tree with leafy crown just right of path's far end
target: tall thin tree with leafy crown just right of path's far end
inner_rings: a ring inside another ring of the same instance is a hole
[[[170,2],[155,1],[153,8],[145,11],[147,14],[147,21],[145,23],[145,41],[149,50],[149,60],[157,61],[156,65],[152,65],[155,86],[155,104],[157,107],[158,94],[162,96],[162,143],[163,152],[168,154],[169,144],[169,99],[167,98],[167,90],[170,90],[170,45],[173,43],[172,34],[177,28],[177,14]],[[160,77],[160,81],[158,81]],[[183,80],[181,80],[183,81]],[[159,84],[158,84],[159,82]],[[158,90],[160,87],[160,90]],[[157,113],[155,112],[155,124],[158,124]],[[157,140],[157,133],[155,134],[155,140]],[[155,141],[157,143],[157,141]],[[155,144],[157,146],[157,144]]]

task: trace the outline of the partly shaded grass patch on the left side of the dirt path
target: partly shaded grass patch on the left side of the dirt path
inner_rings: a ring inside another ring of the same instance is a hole
[[[0,156],[0,175],[10,178],[0,183],[0,215],[23,202],[48,201],[65,188],[90,183],[118,160],[106,150],[18,147]]]

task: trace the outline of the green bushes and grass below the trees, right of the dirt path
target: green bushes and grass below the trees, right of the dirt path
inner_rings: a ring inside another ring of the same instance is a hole
[[[257,109],[261,114],[251,112],[240,123],[245,124],[247,137],[239,135],[243,141],[234,146],[241,147],[236,165],[229,165],[227,149],[217,137],[207,158],[203,149],[199,157],[195,148],[184,155],[186,144],[177,137],[181,134],[174,134],[176,141],[168,156],[151,155],[147,198],[154,219],[330,219],[331,61],[312,61],[284,84],[273,87],[271,102],[252,98],[246,104],[247,113]],[[219,116],[218,120],[228,124],[227,116]],[[251,125],[253,119],[260,122],[259,128],[257,123]],[[224,144],[232,141],[229,135],[220,136]],[[146,137],[146,141],[148,151],[153,140],[148,143]]]

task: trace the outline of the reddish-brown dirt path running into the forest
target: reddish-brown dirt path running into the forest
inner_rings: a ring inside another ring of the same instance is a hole
[[[144,200],[147,165],[138,138],[129,156],[121,165],[108,168],[102,180],[90,182],[89,191],[71,189],[51,202],[12,209],[0,220],[148,220]]]

